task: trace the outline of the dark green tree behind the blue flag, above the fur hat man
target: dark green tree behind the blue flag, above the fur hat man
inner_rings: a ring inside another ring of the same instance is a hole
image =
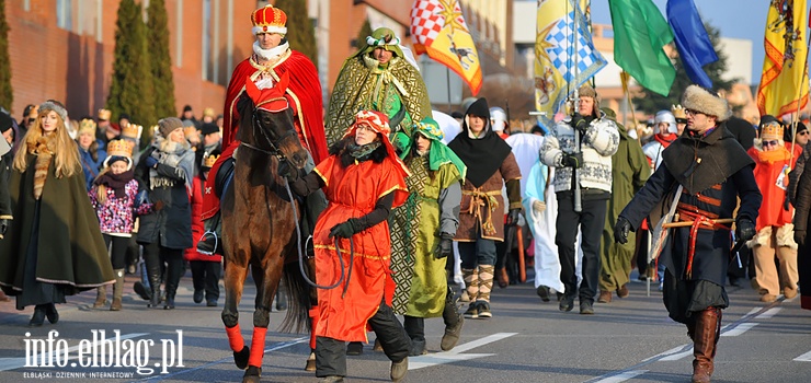
[[[718,61],[705,66],[704,70],[707,72],[710,80],[712,80],[712,85],[716,91],[729,91],[735,83],[736,79],[729,81],[721,80],[721,76],[727,71],[727,55],[724,55],[722,50],[718,49],[720,33],[717,28],[707,23],[704,24],[704,27],[707,30],[710,42],[716,48],[716,55],[718,55]],[[675,45],[671,44],[671,46],[675,51]],[[687,77],[687,72],[684,70],[684,65],[682,63],[681,58],[673,60],[673,66],[676,68],[676,79],[673,81],[673,85],[671,86],[671,92],[667,94],[667,97],[663,97],[655,92],[642,88],[641,96],[633,97],[633,105],[637,107],[637,111],[655,114],[662,109],[670,111],[672,105],[682,103],[682,94],[687,86],[693,84],[693,81]]]

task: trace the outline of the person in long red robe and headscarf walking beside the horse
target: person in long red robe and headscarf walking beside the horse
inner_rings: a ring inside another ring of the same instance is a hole
[[[385,114],[357,112],[343,139],[332,146],[332,155],[304,177],[288,175],[296,194],[323,188],[329,200],[312,240],[320,285],[312,329],[316,375],[325,382],[346,376],[345,341],[368,341],[367,325],[391,360],[391,380],[400,381],[408,372],[411,340],[391,310],[395,283],[387,219],[408,199],[409,171],[389,141],[390,132]]]

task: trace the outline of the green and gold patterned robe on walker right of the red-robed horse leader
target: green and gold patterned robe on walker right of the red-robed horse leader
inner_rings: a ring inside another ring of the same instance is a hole
[[[434,254],[441,232],[455,234],[458,224],[444,218],[448,211],[443,214],[439,199],[443,190],[459,185],[461,176],[456,166],[446,163],[432,177],[427,156],[413,156],[406,164],[411,170],[411,176],[406,178],[410,196],[406,205],[395,209],[389,221],[391,269],[397,283],[392,306],[398,314],[437,317],[445,307],[447,258],[437,259]],[[448,204],[458,206],[458,200],[445,202],[446,210],[450,210]]]

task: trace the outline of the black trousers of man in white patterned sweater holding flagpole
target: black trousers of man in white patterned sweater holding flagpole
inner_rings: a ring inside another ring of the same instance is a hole
[[[560,281],[563,282],[566,292],[563,299],[574,300],[580,297],[581,302],[594,303],[599,282],[599,245],[605,227],[605,214],[607,199],[582,198],[582,209],[574,211],[572,194],[558,193],[558,220],[556,222],[557,235],[555,244],[558,245],[560,258]],[[578,291],[578,276],[574,269],[574,257],[578,252],[574,244],[578,241],[578,232],[582,233],[581,247],[583,248],[583,280]]]

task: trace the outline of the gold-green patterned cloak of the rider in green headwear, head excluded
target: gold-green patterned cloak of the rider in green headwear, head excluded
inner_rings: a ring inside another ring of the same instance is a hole
[[[339,141],[359,109],[385,113],[389,118],[406,105],[406,116],[391,134],[404,130],[411,137],[411,125],[431,117],[429,91],[420,72],[406,59],[392,57],[382,69],[368,55],[353,56],[344,61],[330,96],[324,119],[327,144]]]

